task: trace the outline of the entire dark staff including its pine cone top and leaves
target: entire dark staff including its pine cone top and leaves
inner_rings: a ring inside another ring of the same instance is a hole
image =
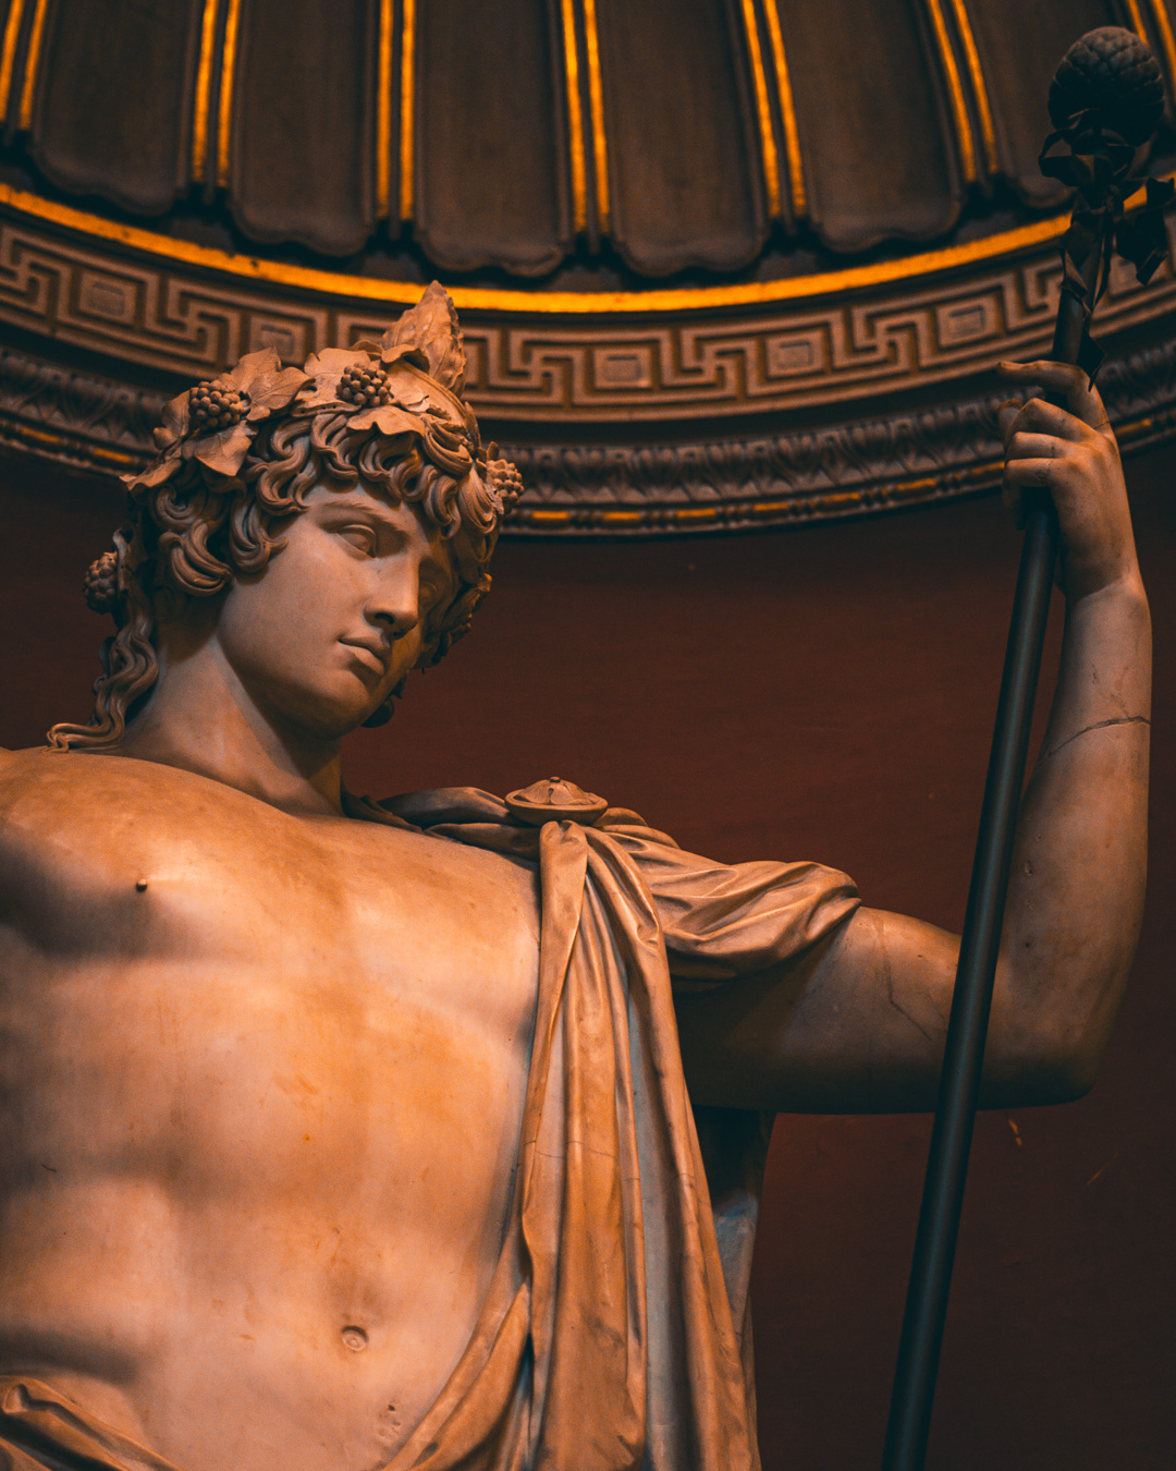
[[[1148,179],[1145,209],[1123,216],[1125,199],[1144,182],[1135,177],[1135,165],[1142,146],[1158,128],[1163,110],[1158,62],[1133,31],[1119,26],[1102,26],[1075,43],[1050,90],[1050,119],[1057,131],[1045,141],[1041,168],[1078,191],[1070,228],[1061,243],[1064,277],[1053,357],[1078,363],[1092,380],[1102,353],[1091,341],[1089,321],[1107,287],[1113,254],[1126,256],[1142,282],[1166,254],[1161,210],[1173,194],[1170,182]],[[926,1456],[1013,836],[1050,613],[1057,516],[1045,491],[1026,496],[1023,505],[1026,522],[1017,591],[960,940],[883,1471],[922,1471]]]

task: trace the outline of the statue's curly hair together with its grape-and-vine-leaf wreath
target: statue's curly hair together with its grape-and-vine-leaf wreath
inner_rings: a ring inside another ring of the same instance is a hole
[[[376,497],[444,563],[415,631],[413,666],[437,663],[490,587],[498,524],[520,490],[514,466],[481,444],[465,369],[457,315],[434,284],[379,343],[326,349],[303,368],[284,368],[272,349],[248,353],[173,399],[159,456],[123,477],[126,524],[87,575],[87,602],[118,630],[103,646],[94,715],[54,725],[50,746],[118,744],[159,677],[159,630],[254,585],[295,518],[340,493]],[[403,683],[366,724],[390,718]]]

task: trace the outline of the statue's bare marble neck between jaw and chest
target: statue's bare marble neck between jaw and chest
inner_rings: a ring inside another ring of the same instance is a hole
[[[266,712],[215,637],[163,634],[159,680],[116,755],[193,771],[284,812],[343,812],[338,737]]]

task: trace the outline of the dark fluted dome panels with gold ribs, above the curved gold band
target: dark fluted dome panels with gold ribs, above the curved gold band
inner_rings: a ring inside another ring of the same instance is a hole
[[[1055,209],[1053,69],[1148,6],[1172,60],[1161,0],[10,0],[0,101],[13,177],[178,235],[764,279]]]

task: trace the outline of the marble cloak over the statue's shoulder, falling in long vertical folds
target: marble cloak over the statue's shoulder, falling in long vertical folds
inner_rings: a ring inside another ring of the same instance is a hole
[[[542,905],[501,1255],[385,1471],[757,1471],[744,1330],[764,1136],[709,1111],[711,1209],[670,971],[698,989],[795,959],[857,890],[817,863],[710,862],[619,808],[525,827],[485,791],[442,788],[345,811],[537,859]]]

